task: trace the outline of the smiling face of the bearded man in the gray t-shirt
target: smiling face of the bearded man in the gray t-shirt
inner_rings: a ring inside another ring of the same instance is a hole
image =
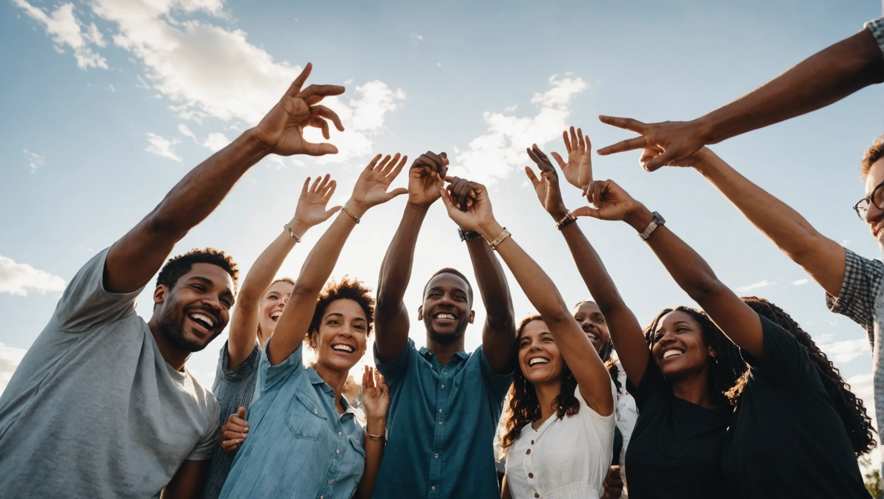
[[[154,309],[160,333],[180,352],[199,352],[230,320],[233,280],[224,268],[194,263],[172,289],[156,286]]]

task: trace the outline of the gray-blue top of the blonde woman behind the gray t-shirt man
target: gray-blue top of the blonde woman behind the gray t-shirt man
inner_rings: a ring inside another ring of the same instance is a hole
[[[231,414],[235,414],[237,409],[252,404],[252,397],[255,396],[255,383],[258,381],[258,366],[261,363],[261,349],[255,343],[255,348],[248,358],[235,369],[228,369],[230,366],[230,355],[227,353],[227,342],[221,347],[221,353],[218,356],[218,367],[215,372],[215,384],[212,391],[218,399],[221,406],[221,426],[223,427],[227,418]],[[212,464],[209,468],[209,474],[206,476],[206,487],[203,489],[203,499],[217,499],[221,495],[221,488],[224,488],[224,482],[227,480],[227,474],[230,473],[230,467],[233,464],[233,456],[227,455],[221,450],[221,445],[217,445],[215,452],[212,453]]]

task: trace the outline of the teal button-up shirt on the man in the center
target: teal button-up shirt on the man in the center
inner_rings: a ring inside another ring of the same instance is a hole
[[[494,430],[512,374],[496,374],[482,347],[442,367],[408,339],[390,362],[375,364],[390,387],[387,444],[375,499],[497,499]]]

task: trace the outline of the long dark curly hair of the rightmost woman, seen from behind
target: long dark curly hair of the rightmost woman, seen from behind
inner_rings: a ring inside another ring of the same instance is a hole
[[[743,301],[758,314],[765,316],[782,329],[786,329],[810,355],[813,367],[817,368],[819,378],[822,380],[823,386],[826,387],[838,416],[841,417],[847,435],[850,437],[850,444],[853,445],[853,451],[857,456],[862,456],[873,450],[875,447],[874,428],[872,420],[865,412],[863,401],[850,391],[850,385],[841,377],[841,372],[837,367],[834,367],[826,354],[819,350],[819,346],[813,342],[811,335],[804,332],[804,329],[801,329],[801,326],[783,309],[766,299],[747,296],[743,297]]]

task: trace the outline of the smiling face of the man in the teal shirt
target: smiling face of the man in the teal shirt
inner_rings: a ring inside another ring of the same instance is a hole
[[[470,310],[469,285],[460,276],[444,272],[427,283],[417,320],[423,321],[430,337],[441,344],[463,338],[475,313]]]

